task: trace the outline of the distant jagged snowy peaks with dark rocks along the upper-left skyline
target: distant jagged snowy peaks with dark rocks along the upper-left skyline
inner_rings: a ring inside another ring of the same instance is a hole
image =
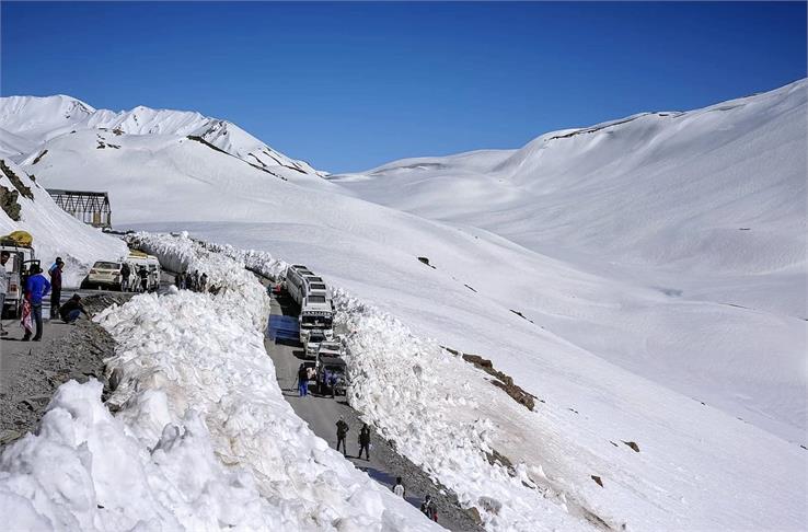
[[[0,152],[18,159],[49,140],[91,130],[111,139],[111,147],[125,135],[187,137],[278,176],[318,175],[308,163],[273,150],[240,127],[194,112],[138,106],[115,113],[65,95],[10,96],[0,99]]]

